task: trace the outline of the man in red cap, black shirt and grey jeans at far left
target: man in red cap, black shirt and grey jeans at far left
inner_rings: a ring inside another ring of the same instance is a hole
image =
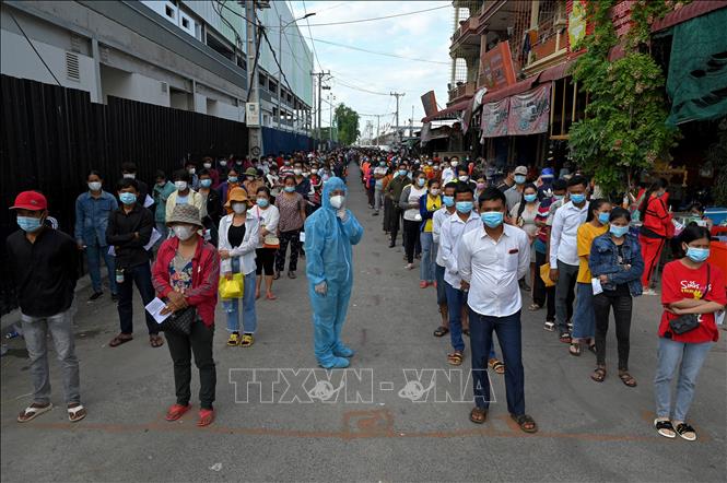
[[[63,393],[68,419],[81,421],[86,411],[81,404],[79,360],[73,341],[73,290],[78,275],[79,252],[70,236],[45,224],[46,197],[23,191],[11,207],[21,229],[7,239],[9,272],[21,309],[25,345],[31,358],[33,402],[17,415],[25,423],[49,411],[48,332],[63,372]]]

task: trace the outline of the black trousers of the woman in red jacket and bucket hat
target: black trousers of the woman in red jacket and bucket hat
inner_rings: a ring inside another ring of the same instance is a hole
[[[174,387],[177,394],[177,404],[187,405],[191,398],[191,354],[195,354],[195,365],[199,369],[199,402],[202,409],[212,409],[214,389],[218,384],[218,374],[212,358],[212,341],[214,326],[207,327],[198,320],[191,325],[189,335],[165,332],[166,344],[174,363]]]

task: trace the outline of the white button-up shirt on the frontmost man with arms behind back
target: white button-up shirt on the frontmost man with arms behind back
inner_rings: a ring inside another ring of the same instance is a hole
[[[490,317],[507,317],[523,307],[517,283],[530,267],[530,241],[520,228],[503,225],[499,240],[483,227],[466,233],[457,249],[459,275],[469,282],[467,305]]]

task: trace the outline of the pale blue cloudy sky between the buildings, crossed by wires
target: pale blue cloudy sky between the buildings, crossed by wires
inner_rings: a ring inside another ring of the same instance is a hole
[[[304,5],[305,3],[305,5]],[[367,52],[315,43],[318,60],[324,70],[331,71],[329,81],[336,96],[335,104],[344,103],[363,114],[389,114],[382,117],[382,130],[391,123],[396,110],[396,99],[389,95],[375,95],[352,90],[342,83],[360,86],[367,91],[388,94],[403,92],[400,98],[399,122],[408,123],[411,107],[414,106],[414,120],[424,117],[420,96],[434,90],[437,104],[447,102],[446,85],[449,80],[449,36],[453,28],[453,9],[448,1],[292,1],[295,17],[307,12],[316,12],[307,21],[298,22],[303,36],[357,48],[389,52],[403,57],[434,60],[444,63],[427,63],[399,58],[383,57]],[[448,8],[394,19],[361,22],[344,25],[316,26],[319,23],[347,22],[407,13],[435,7]],[[308,40],[310,45],[310,40]],[[316,62],[316,70],[320,67]],[[324,105],[326,105],[324,103]],[[328,123],[328,109],[323,109],[323,125]],[[375,117],[362,117],[360,129],[363,131],[366,120]]]

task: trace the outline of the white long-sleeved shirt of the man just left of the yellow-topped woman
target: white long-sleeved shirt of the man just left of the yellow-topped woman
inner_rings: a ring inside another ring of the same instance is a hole
[[[558,260],[571,266],[578,264],[578,226],[586,223],[588,202],[578,208],[572,201],[555,211],[550,231],[550,268],[558,269]]]

